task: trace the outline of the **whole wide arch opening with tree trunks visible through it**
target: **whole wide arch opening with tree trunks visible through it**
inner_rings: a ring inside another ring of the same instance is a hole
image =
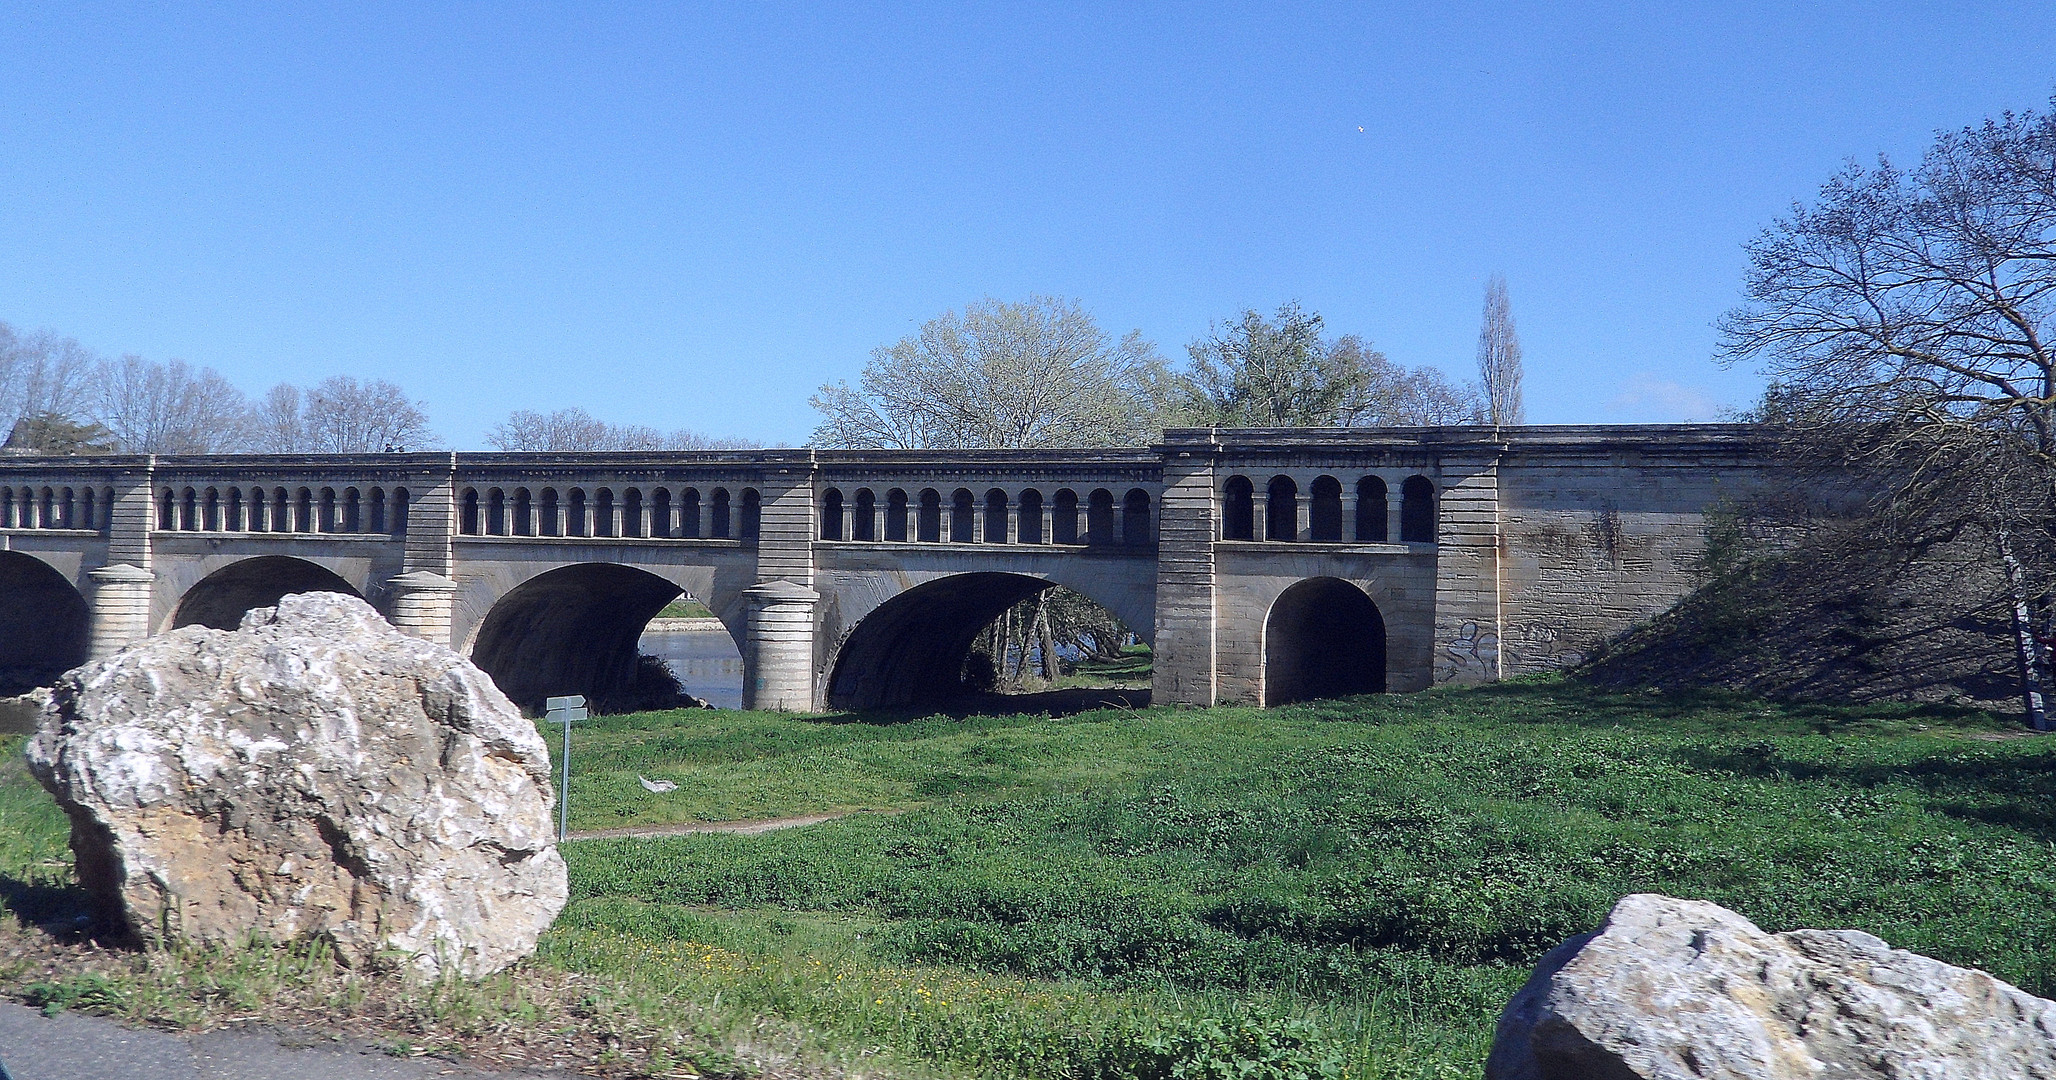
[[[1055,611],[1057,607],[1065,611]],[[829,706],[843,710],[975,701],[979,710],[1075,712],[1118,693],[1147,704],[1147,652],[1106,607],[1028,574],[952,574],[864,615],[835,654]],[[1051,691],[1044,677],[1127,662],[1125,685]],[[1049,667],[1044,667],[1044,662]]]

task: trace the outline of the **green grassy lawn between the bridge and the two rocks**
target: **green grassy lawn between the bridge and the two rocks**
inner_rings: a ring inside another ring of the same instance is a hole
[[[401,1010],[424,1033],[473,1045],[438,1008],[615,1031],[590,1064],[623,1074],[800,1068],[765,1066],[775,1045],[866,1074],[1476,1076],[1534,959],[1635,891],[2056,994],[2056,741],[1976,712],[1536,681],[1061,720],[613,716],[572,757],[574,829],[890,813],[574,841],[537,959]],[[70,897],[62,835],[0,767],[0,887],[31,922]],[[82,1004],[152,1018],[177,996],[138,981],[224,963],[132,959]],[[33,977],[0,957],[16,996]]]

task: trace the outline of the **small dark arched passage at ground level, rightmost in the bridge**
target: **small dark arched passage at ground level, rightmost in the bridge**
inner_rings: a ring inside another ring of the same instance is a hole
[[[1386,691],[1386,619],[1341,578],[1293,584],[1264,619],[1264,706]]]

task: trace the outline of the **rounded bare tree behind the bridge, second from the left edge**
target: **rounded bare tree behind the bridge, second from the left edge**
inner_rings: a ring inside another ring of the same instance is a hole
[[[93,420],[132,455],[220,455],[247,440],[249,401],[214,368],[123,356],[99,366]]]

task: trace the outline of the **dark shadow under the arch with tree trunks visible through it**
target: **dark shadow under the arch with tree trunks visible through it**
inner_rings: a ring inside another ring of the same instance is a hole
[[[1028,574],[972,572],[892,597],[837,650],[829,708],[931,706],[962,697],[964,660],[979,632],[1009,607],[1059,584]]]

